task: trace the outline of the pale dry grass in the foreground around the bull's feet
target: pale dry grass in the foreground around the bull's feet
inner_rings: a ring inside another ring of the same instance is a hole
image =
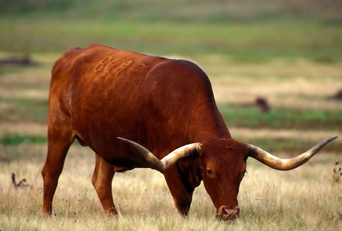
[[[46,147],[39,158],[0,163],[1,230],[338,230],[342,220],[341,184],[333,183],[334,154],[314,157],[287,172],[251,159],[238,196],[241,217],[219,222],[203,185],[194,193],[189,218],[177,213],[163,176],[148,169],[116,174],[113,195],[119,216],[107,219],[91,184],[94,155],[72,147],[54,197],[53,216],[41,214]],[[34,189],[15,189],[11,182],[26,178]],[[55,215],[56,214],[56,215]],[[333,217],[334,216],[334,217]],[[333,218],[332,218],[333,217]]]

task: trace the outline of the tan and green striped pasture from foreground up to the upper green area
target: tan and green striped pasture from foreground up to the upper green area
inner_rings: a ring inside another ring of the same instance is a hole
[[[1,57],[7,56],[1,53]],[[189,217],[182,219],[163,176],[149,169],[116,174],[114,201],[119,216],[107,219],[91,184],[94,154],[73,144],[56,190],[53,216],[41,214],[50,70],[61,54],[32,54],[34,65],[2,66],[0,72],[1,230],[341,230],[342,178],[333,169],[341,158],[340,62],[271,59],[236,63],[225,55],[191,57],[208,74],[233,138],[288,158],[320,140],[339,135],[305,165],[276,171],[249,159],[238,196],[241,216],[215,219],[203,185],[194,192]],[[271,111],[253,103],[265,97]],[[33,188],[15,189],[26,178]],[[336,179],[336,178],[335,178]]]

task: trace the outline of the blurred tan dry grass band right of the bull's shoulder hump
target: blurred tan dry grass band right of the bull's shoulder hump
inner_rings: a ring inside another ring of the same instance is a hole
[[[202,67],[211,79],[218,104],[251,103],[262,96],[277,107],[328,110],[341,107],[340,102],[328,100],[342,89],[340,63],[278,60],[271,64],[239,65],[215,56],[212,59],[208,60],[208,66]]]

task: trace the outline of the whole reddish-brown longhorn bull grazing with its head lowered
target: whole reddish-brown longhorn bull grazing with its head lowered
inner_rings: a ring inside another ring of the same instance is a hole
[[[249,156],[290,170],[335,137],[293,159],[278,159],[232,139],[210,81],[196,64],[94,45],[68,51],[52,69],[42,169],[45,214],[51,215],[75,138],[96,153],[92,183],[108,215],[117,214],[111,192],[115,172],[153,168],[163,173],[181,215],[188,215],[203,180],[216,215],[232,219],[239,216],[237,195]]]

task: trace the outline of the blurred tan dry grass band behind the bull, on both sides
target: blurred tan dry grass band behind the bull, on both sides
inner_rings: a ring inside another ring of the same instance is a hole
[[[0,53],[1,56],[5,55]],[[51,67],[58,55],[44,57],[34,55],[39,66],[3,74],[0,97],[47,99]],[[278,107],[333,110],[341,104],[327,100],[342,89],[341,63],[279,59],[271,63],[236,64],[221,55],[197,56],[193,60],[208,74],[218,104],[251,103],[258,96]],[[8,106],[0,102],[0,108]]]

